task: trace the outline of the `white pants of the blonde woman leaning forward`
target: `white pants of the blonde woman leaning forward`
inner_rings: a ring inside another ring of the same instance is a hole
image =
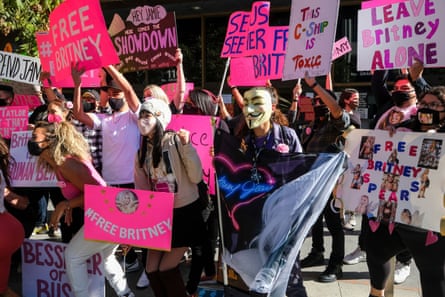
[[[66,274],[74,296],[89,297],[87,259],[100,253],[104,261],[104,274],[118,296],[128,294],[128,287],[122,267],[114,255],[117,244],[84,239],[84,226],[71,239],[65,250]]]

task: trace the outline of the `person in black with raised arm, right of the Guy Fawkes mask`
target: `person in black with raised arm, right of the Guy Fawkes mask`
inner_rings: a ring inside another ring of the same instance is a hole
[[[339,137],[350,125],[350,116],[336,101],[335,94],[324,89],[313,77],[305,77],[306,84],[315,92],[315,119],[304,129],[302,142],[307,153],[338,152]],[[339,146],[340,145],[340,146]],[[332,251],[326,269],[318,276],[320,282],[333,282],[343,276],[342,264],[345,252],[345,233],[331,196],[323,213],[312,226],[312,250],[301,260],[303,267],[323,265],[324,241],[323,218],[332,235]]]

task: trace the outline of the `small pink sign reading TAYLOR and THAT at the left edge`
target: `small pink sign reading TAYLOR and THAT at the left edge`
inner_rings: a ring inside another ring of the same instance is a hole
[[[11,138],[14,131],[28,129],[28,106],[0,107],[0,134]]]

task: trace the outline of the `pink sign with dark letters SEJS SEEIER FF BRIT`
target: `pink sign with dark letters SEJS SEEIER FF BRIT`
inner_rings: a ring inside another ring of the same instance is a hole
[[[258,1],[252,10],[230,15],[221,57],[251,57],[256,79],[279,79],[283,73],[288,26],[269,26],[270,2]],[[234,72],[230,72],[232,79]],[[235,76],[235,75],[234,75]]]

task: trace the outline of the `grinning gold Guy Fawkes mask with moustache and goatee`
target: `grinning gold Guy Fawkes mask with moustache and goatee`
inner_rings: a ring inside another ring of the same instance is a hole
[[[244,118],[249,129],[261,126],[272,116],[272,95],[265,89],[250,89],[244,93]]]

